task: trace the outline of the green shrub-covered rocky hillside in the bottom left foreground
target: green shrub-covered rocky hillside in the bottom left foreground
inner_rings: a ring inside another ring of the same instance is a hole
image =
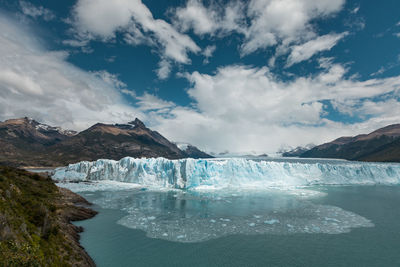
[[[70,223],[96,214],[88,204],[48,176],[0,166],[0,265],[94,266]]]

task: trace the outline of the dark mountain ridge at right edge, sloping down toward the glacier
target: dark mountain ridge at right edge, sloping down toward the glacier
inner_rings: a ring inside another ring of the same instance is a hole
[[[290,156],[293,153],[284,153]],[[339,158],[360,161],[400,162],[400,124],[392,124],[369,134],[340,137],[302,151],[302,158]]]

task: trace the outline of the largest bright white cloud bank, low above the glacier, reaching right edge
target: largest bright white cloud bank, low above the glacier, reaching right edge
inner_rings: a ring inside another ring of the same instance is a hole
[[[400,103],[384,94],[399,95],[400,79],[357,81],[346,69],[325,60],[321,73],[283,82],[268,68],[232,65],[214,75],[193,72],[186,78],[193,107],[176,106],[152,114],[152,125],[172,140],[184,140],[208,151],[273,152],[282,145],[322,143],[342,135],[372,131],[400,120]],[[344,124],[325,119],[322,101],[339,112],[367,118]],[[387,104],[387,106],[385,106]]]

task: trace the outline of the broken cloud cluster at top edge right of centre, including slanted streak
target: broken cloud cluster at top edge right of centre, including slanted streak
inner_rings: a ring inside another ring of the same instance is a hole
[[[343,34],[318,37],[312,25],[312,20],[335,14],[343,4],[344,0],[251,0],[211,2],[206,6],[200,0],[189,0],[173,11],[173,18],[180,30],[193,30],[200,36],[240,34],[242,56],[270,47],[276,47],[276,56],[292,51],[289,60],[294,64],[296,60],[331,49],[343,37]]]

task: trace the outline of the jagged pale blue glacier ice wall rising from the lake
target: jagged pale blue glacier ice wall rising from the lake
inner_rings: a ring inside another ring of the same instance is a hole
[[[400,184],[400,164],[293,163],[230,159],[138,159],[82,161],[57,168],[59,181],[111,180],[178,189]]]

